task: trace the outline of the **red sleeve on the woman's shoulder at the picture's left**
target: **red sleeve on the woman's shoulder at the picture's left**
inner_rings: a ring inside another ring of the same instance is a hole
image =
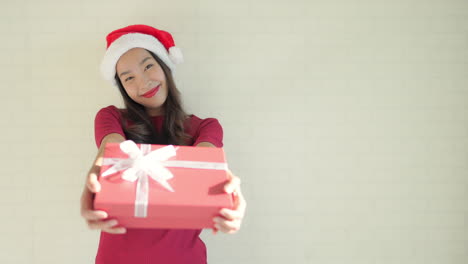
[[[120,112],[113,105],[102,108],[96,114],[96,118],[94,119],[96,146],[99,148],[102,139],[111,133],[118,133],[125,138],[122,125],[120,124]]]

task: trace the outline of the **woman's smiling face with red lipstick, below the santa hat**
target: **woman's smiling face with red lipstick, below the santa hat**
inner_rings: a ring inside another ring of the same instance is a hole
[[[168,93],[166,76],[147,50],[134,48],[124,53],[117,61],[116,71],[133,101],[143,105],[150,116],[164,114]]]

